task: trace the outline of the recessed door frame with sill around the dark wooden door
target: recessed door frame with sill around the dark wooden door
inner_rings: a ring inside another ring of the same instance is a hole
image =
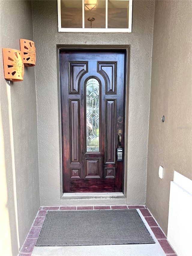
[[[123,193],[64,193],[63,194],[63,177],[62,177],[62,120],[61,120],[61,84],[60,84],[60,59],[59,59],[59,53],[60,50],[125,50],[125,149],[124,149],[124,155],[125,155],[125,161],[124,161],[124,173],[123,173]],[[73,200],[69,199],[84,199],[81,200],[80,205],[87,204],[89,202],[89,199],[95,198],[97,199],[99,205],[102,205],[102,203],[98,200],[101,199],[112,199],[114,198],[114,203],[110,201],[110,203],[113,204],[122,204],[126,203],[126,197],[127,194],[127,166],[128,166],[128,107],[129,107],[129,74],[130,74],[130,45],[57,45],[57,80],[58,80],[58,112],[59,112],[59,159],[60,159],[60,195],[61,195],[61,205],[74,205]],[[101,200],[103,201],[103,200]],[[105,201],[105,200],[104,200]],[[79,202],[76,202],[76,205],[78,205]],[[106,203],[104,203],[106,204]],[[89,204],[90,205],[90,204]]]

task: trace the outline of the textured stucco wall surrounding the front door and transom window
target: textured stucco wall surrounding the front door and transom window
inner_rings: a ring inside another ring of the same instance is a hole
[[[57,1],[32,1],[41,205],[61,203],[57,44],[131,45],[126,195],[128,204],[145,203],[154,5],[133,1],[131,34],[59,33]]]

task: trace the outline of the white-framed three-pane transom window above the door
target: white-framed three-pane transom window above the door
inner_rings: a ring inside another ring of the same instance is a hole
[[[132,0],[58,0],[58,32],[131,33]]]

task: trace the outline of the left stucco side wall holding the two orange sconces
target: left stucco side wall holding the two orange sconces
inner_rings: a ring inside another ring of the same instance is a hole
[[[0,48],[33,40],[31,1],[0,1]],[[4,79],[0,54],[1,255],[17,255],[40,206],[35,68],[23,82]]]

